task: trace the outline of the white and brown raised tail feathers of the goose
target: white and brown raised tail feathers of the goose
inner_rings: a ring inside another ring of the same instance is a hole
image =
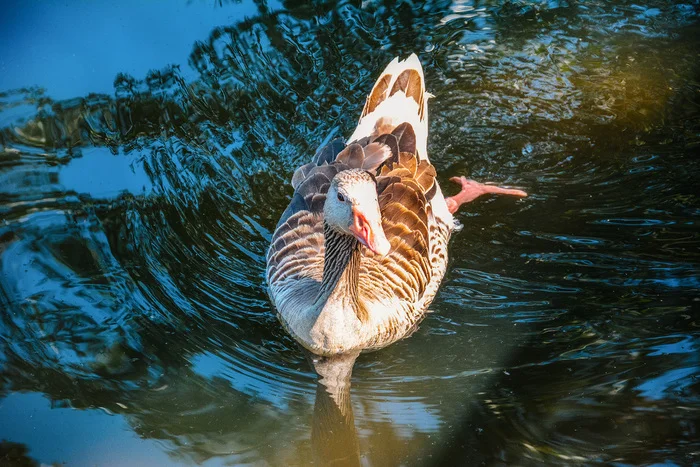
[[[367,96],[360,121],[348,142],[372,140],[409,123],[416,133],[416,152],[428,160],[428,99],[423,67],[416,54],[405,60],[394,58],[384,69]]]

